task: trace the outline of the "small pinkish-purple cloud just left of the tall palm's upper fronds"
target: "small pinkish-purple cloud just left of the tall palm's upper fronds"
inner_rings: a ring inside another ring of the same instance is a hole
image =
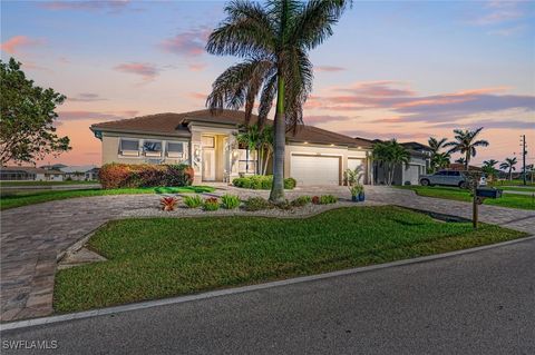
[[[200,28],[197,30],[178,33],[173,38],[165,39],[160,43],[160,48],[169,53],[185,56],[185,57],[198,57],[204,51],[204,46],[208,39],[210,30]]]

